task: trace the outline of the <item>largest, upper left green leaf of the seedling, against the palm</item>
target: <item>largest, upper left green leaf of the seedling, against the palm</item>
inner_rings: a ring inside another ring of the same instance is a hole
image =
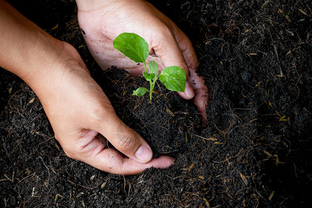
[[[115,49],[137,63],[144,63],[148,57],[147,42],[135,33],[121,33],[113,41],[113,45]]]

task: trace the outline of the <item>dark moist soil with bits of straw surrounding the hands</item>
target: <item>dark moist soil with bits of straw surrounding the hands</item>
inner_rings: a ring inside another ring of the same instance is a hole
[[[1,70],[0,207],[309,207],[311,1],[152,1],[190,38],[209,88],[190,101],[87,50],[73,1],[10,1],[79,51],[116,113],[173,166],[112,175],[67,157],[28,85]]]

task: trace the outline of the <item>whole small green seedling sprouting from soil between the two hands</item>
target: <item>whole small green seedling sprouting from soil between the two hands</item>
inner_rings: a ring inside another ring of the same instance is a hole
[[[152,101],[153,89],[156,81],[159,79],[165,87],[171,91],[184,92],[187,81],[187,76],[183,69],[177,66],[166,67],[162,73],[159,73],[158,66],[155,61],[148,63],[148,69],[146,67],[146,58],[148,57],[148,44],[143,37],[135,33],[121,33],[113,41],[114,48],[118,49],[134,62],[143,63],[145,71],[143,76],[150,82],[150,90],[145,87],[139,87],[137,90],[133,90],[134,96],[144,96],[146,92],[150,92],[150,101]]]

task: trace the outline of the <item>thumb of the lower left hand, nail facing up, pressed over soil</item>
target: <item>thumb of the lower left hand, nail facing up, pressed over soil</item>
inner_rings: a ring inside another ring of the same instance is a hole
[[[135,130],[129,128],[118,116],[104,121],[99,132],[121,153],[137,162],[146,163],[153,157],[153,151],[148,143]]]

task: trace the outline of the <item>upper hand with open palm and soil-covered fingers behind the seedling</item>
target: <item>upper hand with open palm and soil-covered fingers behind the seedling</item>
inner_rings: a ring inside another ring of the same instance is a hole
[[[116,66],[132,75],[141,75],[144,65],[125,58],[114,49],[112,41],[121,33],[136,33],[144,37],[150,46],[148,62],[155,60],[160,71],[165,67],[178,66],[187,73],[187,87],[184,93],[179,94],[185,99],[193,98],[205,121],[208,89],[203,78],[196,73],[196,53],[189,38],[171,19],[142,0],[76,2],[83,37],[102,69]]]

